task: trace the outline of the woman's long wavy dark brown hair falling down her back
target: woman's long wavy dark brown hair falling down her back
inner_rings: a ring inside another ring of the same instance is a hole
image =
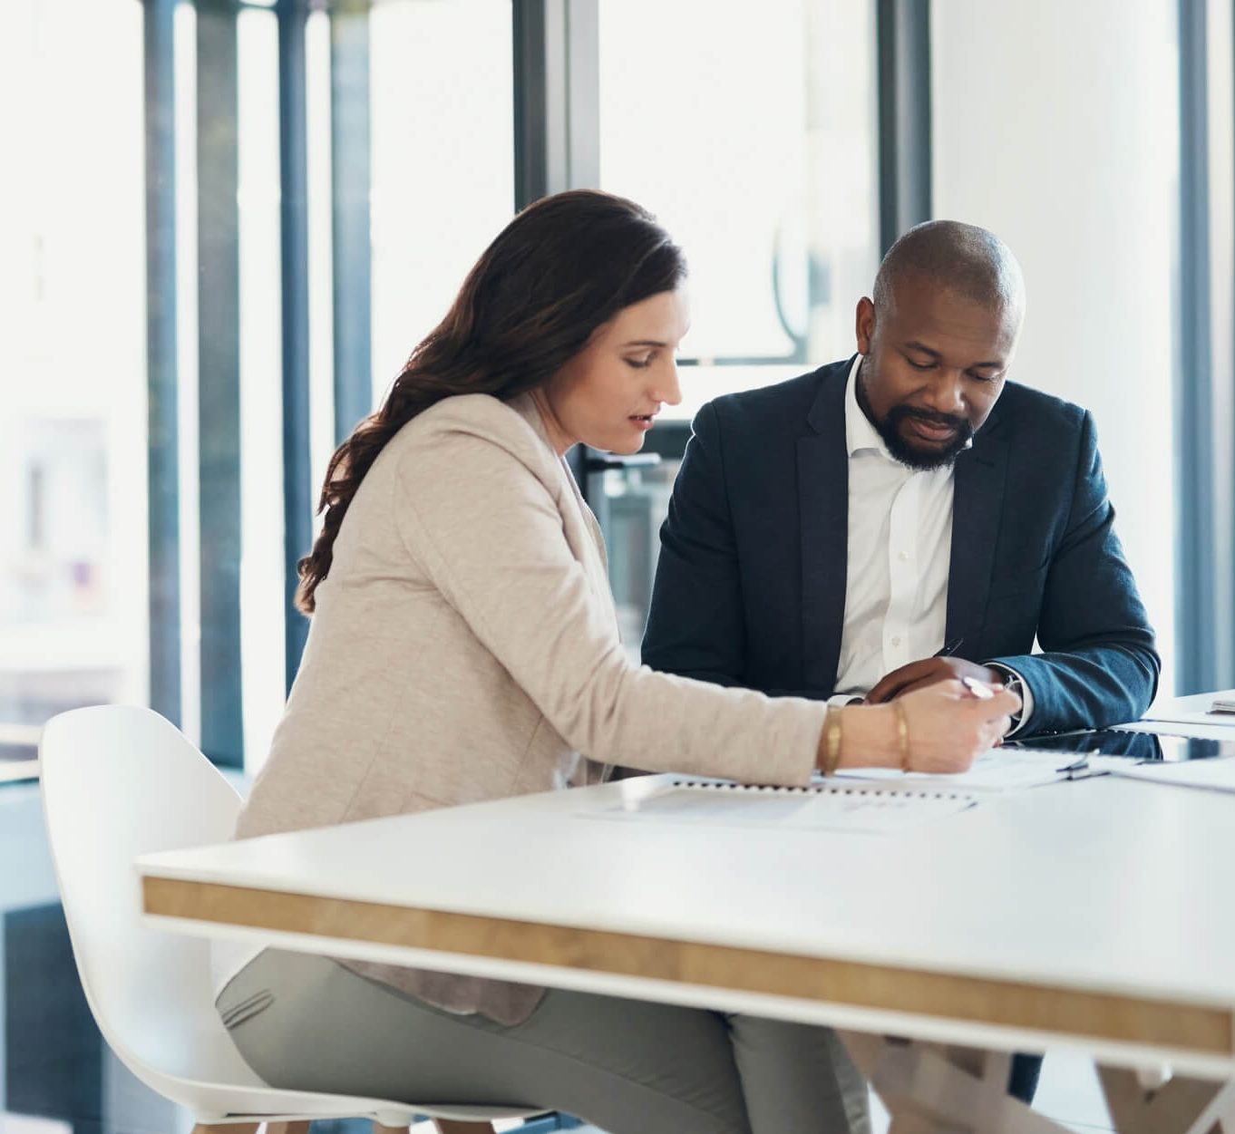
[[[380,408],[331,457],[317,502],[321,532],[298,565],[296,606],[314,612],[364,474],[417,413],[452,394],[510,399],[541,385],[601,323],[684,276],[678,247],[632,201],[572,190],[520,212],[468,273],[446,318],[412,350]]]

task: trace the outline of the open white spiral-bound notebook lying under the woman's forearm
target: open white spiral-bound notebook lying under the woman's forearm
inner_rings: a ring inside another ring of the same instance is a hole
[[[871,834],[904,830],[976,806],[977,795],[913,784],[813,784],[762,787],[731,780],[672,780],[595,818],[646,823],[777,827]]]

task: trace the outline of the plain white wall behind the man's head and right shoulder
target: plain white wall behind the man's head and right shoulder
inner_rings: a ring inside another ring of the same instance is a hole
[[[1174,0],[934,0],[934,209],[1016,253],[1013,376],[1091,408],[1173,681]]]

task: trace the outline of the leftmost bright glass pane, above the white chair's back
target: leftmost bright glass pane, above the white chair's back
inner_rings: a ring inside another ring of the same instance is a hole
[[[0,747],[147,679],[142,9],[4,22]]]

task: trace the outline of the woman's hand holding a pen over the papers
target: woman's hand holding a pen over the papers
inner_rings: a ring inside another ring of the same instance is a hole
[[[1020,697],[995,687],[978,698],[960,681],[940,681],[902,695],[897,702],[909,728],[908,771],[966,771],[979,753],[1008,732]]]

